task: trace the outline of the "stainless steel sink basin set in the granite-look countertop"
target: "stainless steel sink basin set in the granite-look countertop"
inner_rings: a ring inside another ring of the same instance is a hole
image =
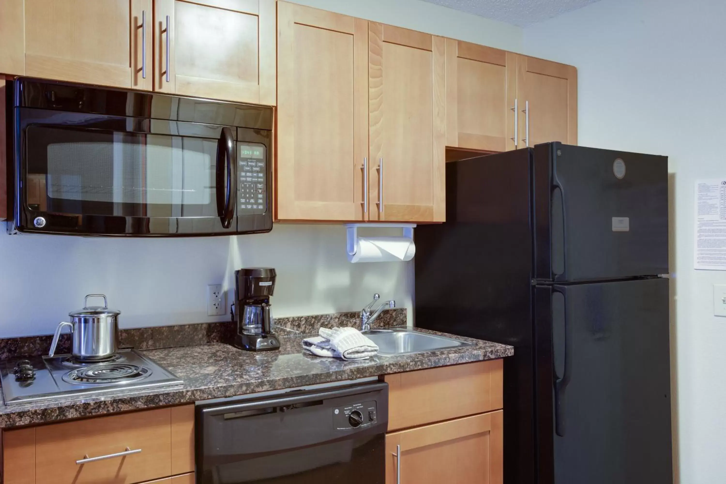
[[[417,332],[415,329],[397,328],[385,330],[385,332],[374,329],[371,332],[364,332],[364,335],[378,345],[378,354],[381,356],[408,355],[471,345],[471,343],[446,336],[427,335]]]

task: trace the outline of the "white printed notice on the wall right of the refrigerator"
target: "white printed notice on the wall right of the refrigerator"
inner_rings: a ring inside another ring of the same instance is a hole
[[[726,271],[726,178],[696,181],[694,267]]]

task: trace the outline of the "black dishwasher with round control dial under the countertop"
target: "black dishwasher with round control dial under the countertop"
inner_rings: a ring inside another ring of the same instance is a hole
[[[199,403],[197,484],[384,484],[388,384]]]

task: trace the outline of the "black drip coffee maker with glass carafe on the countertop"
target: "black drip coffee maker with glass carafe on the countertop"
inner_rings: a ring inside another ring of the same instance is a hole
[[[270,296],[277,274],[270,267],[248,267],[234,271],[234,319],[237,335],[234,346],[242,350],[279,350],[274,334]]]

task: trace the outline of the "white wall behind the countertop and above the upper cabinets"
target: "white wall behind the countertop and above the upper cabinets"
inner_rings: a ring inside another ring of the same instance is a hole
[[[298,3],[503,49],[522,44],[521,28],[419,0]],[[276,316],[357,311],[380,292],[409,308],[410,321],[413,262],[351,264],[345,240],[343,226],[330,225],[194,239],[10,236],[3,229],[0,337],[48,334],[91,292],[104,292],[123,311],[124,328],[224,320],[206,316],[206,286],[229,287],[242,266],[277,268]]]

